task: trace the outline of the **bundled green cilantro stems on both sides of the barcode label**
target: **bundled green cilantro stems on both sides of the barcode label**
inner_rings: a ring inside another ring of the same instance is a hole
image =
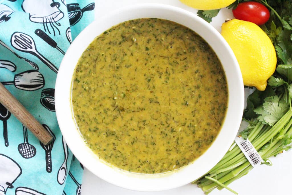
[[[256,122],[257,124],[250,130],[248,139],[252,140],[253,146],[263,159],[292,147],[285,146],[286,140],[290,140],[292,137],[292,111],[290,109],[272,127],[264,125],[258,120]],[[205,177],[192,184],[197,184],[205,194],[208,194],[215,188],[221,190],[227,187],[228,184],[246,175],[251,169],[253,169],[252,165],[238,146],[235,146]]]

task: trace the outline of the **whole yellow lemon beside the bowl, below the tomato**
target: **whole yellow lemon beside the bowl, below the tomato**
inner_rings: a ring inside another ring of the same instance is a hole
[[[277,64],[276,51],[267,34],[258,25],[237,19],[223,23],[221,34],[237,58],[244,85],[264,91]]]

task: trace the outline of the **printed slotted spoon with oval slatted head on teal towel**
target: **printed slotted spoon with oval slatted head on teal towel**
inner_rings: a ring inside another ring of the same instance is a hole
[[[44,64],[46,64],[55,73],[58,73],[58,68],[55,67],[47,58],[41,55],[37,49],[34,39],[28,34],[22,32],[14,32],[11,36],[11,45],[18,51],[33,54],[38,57]]]

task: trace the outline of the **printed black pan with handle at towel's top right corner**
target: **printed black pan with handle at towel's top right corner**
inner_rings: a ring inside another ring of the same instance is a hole
[[[88,4],[82,9],[80,8],[78,3],[67,4],[70,26],[73,26],[76,23],[78,23],[79,20],[82,18],[83,13],[86,11],[94,10],[94,7],[95,7],[94,3]]]

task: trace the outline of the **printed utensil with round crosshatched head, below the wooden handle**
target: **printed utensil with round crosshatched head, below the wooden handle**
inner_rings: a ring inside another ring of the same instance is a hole
[[[36,148],[28,143],[27,128],[24,125],[22,127],[24,142],[18,145],[18,151],[23,158],[32,158],[36,155]]]

